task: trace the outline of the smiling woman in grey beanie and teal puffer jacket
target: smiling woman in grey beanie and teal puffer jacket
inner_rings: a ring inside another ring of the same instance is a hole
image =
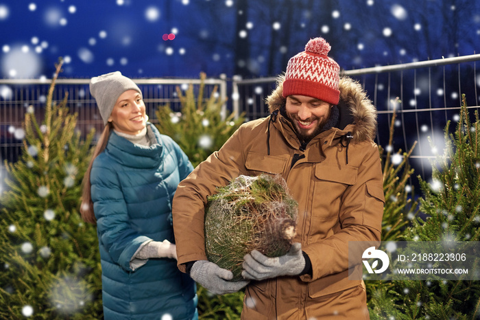
[[[84,176],[82,218],[97,224],[105,319],[197,319],[195,282],[176,266],[171,201],[193,170],[147,122],[119,71],[91,79],[105,129]]]

